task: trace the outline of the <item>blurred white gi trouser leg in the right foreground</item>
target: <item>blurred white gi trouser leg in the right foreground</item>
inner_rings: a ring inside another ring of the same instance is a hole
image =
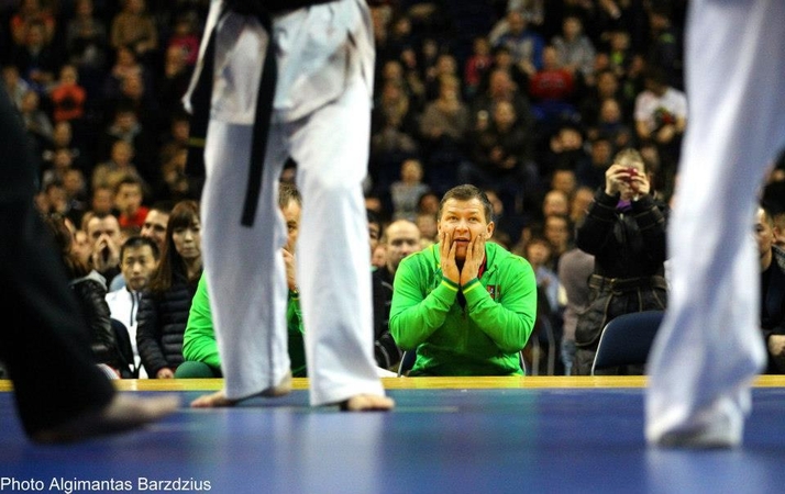
[[[765,362],[752,232],[756,192],[785,138],[785,2],[689,8],[672,294],[649,362],[645,433],[654,444],[738,445]]]

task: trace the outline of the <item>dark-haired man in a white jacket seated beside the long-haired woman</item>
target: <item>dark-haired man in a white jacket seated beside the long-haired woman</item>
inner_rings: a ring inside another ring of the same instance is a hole
[[[136,346],[136,315],[142,300],[142,291],[147,288],[153,271],[158,266],[161,251],[151,238],[133,236],[120,248],[120,270],[125,284],[107,293],[107,303],[113,319],[121,322],[128,329],[133,352],[132,378],[146,378]]]

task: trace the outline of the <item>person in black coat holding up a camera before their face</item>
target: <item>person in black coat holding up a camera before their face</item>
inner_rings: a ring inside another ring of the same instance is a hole
[[[576,245],[595,257],[587,310],[575,329],[575,370],[591,371],[602,328],[630,312],[665,310],[665,218],[667,206],[655,201],[651,176],[634,149],[620,151],[606,171]],[[607,373],[642,373],[643,369],[609,369]]]

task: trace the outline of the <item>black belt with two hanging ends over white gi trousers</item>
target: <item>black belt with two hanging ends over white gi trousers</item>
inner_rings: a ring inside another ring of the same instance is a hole
[[[273,15],[302,7],[328,3],[335,0],[224,0],[220,16],[226,11],[242,15],[253,15],[259,20],[267,31],[269,41],[265,50],[262,66],[262,80],[258,97],[256,98],[256,112],[254,115],[253,144],[251,148],[251,164],[248,167],[248,184],[245,190],[243,215],[240,223],[243,226],[253,226],[258,198],[262,191],[262,177],[264,171],[264,157],[267,150],[267,135],[269,134],[270,119],[273,115],[273,99],[275,83],[278,77],[278,65],[275,57],[273,42]],[[188,138],[188,172],[195,176],[204,176],[204,142],[207,127],[210,122],[210,103],[212,100],[213,65],[215,58],[215,29],[210,37],[202,58],[202,69],[194,92],[191,105],[194,114],[190,121]]]

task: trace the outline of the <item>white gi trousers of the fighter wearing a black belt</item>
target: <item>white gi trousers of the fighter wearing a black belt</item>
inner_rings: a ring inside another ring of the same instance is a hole
[[[253,227],[240,220],[267,33],[255,19],[236,14],[217,26],[202,248],[229,398],[277,385],[289,370],[280,252],[287,231],[277,204],[278,177],[288,156],[298,162],[303,198],[296,259],[310,402],[384,394],[373,357],[362,192],[373,49],[356,43],[372,38],[368,19],[364,3],[341,0],[274,20],[279,76]],[[320,60],[328,65],[319,67]]]

